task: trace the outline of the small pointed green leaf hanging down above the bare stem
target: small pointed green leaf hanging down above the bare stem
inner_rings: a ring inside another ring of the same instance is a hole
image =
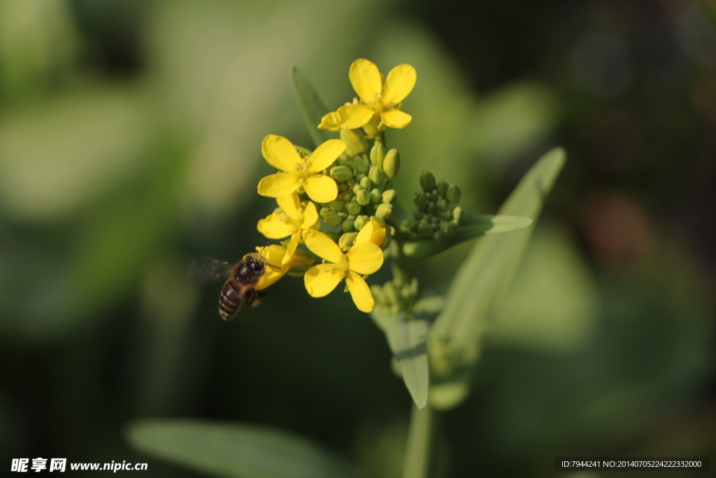
[[[424,319],[392,320],[385,330],[388,345],[400,364],[400,373],[418,408],[427,404],[430,373],[427,363],[427,328]]]

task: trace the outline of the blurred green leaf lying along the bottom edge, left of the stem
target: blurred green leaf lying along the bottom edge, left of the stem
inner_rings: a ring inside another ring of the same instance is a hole
[[[199,420],[142,420],[127,441],[198,472],[232,478],[359,478],[349,464],[310,441],[261,426]]]

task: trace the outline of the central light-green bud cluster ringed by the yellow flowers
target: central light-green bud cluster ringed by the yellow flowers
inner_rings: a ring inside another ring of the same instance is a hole
[[[319,216],[329,227],[341,228],[337,243],[347,251],[371,219],[384,226],[390,218],[395,202],[392,179],[400,168],[397,150],[386,151],[375,141],[368,151],[368,143],[359,130],[341,130],[346,150],[336,162],[324,171],[338,185],[338,196],[319,209]]]

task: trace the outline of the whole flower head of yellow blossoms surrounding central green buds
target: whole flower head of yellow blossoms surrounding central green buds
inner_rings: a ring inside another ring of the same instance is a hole
[[[375,300],[365,279],[382,267],[383,250],[395,234],[386,221],[396,198],[392,180],[400,168],[400,155],[386,150],[382,132],[410,123],[400,102],[416,75],[415,68],[402,64],[383,82],[372,62],[358,59],[349,78],[360,100],[325,115],[317,125],[339,132],[340,139],[313,151],[278,135],[263,139],[263,158],[279,172],[262,178],[257,190],[275,198],[278,207],[258,221],[257,229],[283,241],[257,248],[271,267],[256,288],[269,287],[285,274],[302,274],[309,295],[324,297],[345,279],[358,309],[371,312]],[[373,140],[370,148],[367,140]],[[313,265],[313,254],[323,259],[321,264]]]

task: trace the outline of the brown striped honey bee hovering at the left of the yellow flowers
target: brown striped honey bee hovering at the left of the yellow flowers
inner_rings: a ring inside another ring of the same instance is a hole
[[[200,282],[208,282],[231,273],[219,296],[219,315],[223,320],[229,320],[241,309],[243,302],[256,307],[261,304],[261,298],[268,295],[265,290],[255,289],[267,265],[271,267],[256,252],[246,254],[236,264],[206,258],[193,265],[190,275]]]

